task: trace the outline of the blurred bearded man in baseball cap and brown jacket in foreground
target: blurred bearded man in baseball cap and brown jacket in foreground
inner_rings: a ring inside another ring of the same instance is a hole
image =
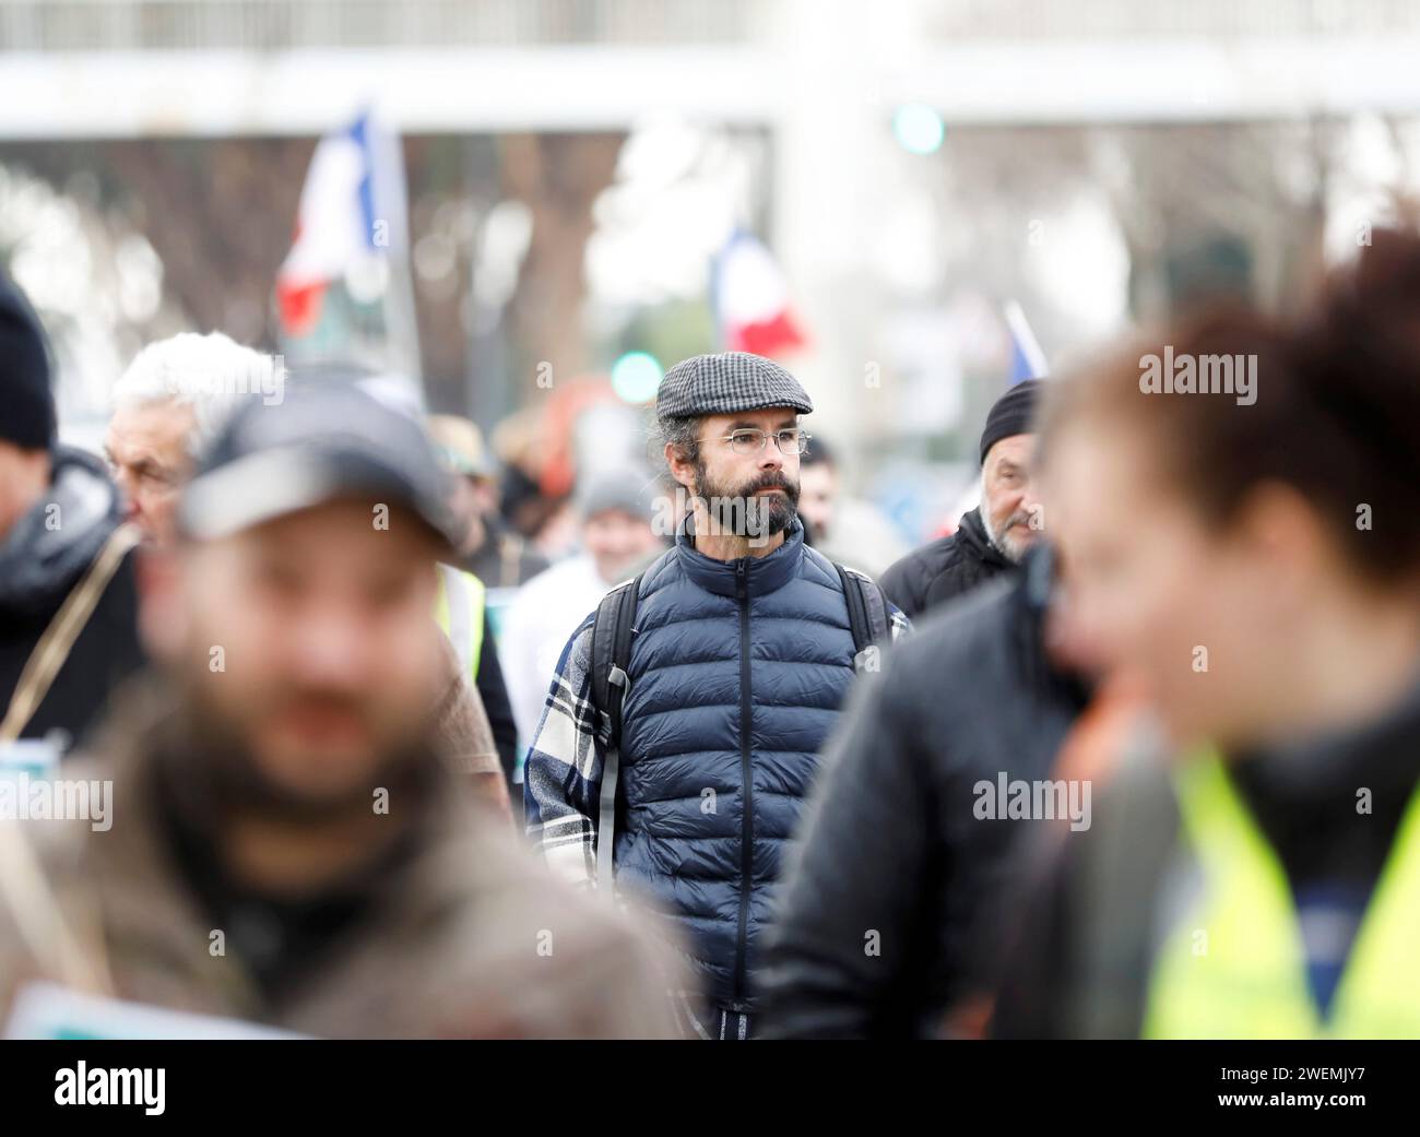
[[[217,439],[143,598],[169,683],[97,748],[111,825],[24,826],[108,994],[322,1036],[666,1029],[642,943],[436,747],[467,691],[429,619],[447,532],[419,426],[359,392],[248,406]],[[6,894],[0,998],[64,958],[34,950],[53,913]]]

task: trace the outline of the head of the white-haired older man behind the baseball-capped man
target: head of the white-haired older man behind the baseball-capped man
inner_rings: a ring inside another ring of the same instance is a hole
[[[183,332],[138,353],[114,386],[104,450],[145,539],[168,539],[195,460],[241,400],[278,403],[284,389],[280,358],[222,332]]]

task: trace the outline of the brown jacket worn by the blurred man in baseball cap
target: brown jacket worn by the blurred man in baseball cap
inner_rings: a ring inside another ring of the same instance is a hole
[[[219,930],[153,808],[149,737],[151,720],[115,724],[102,755],[62,769],[112,779],[108,832],[82,820],[9,826],[38,853],[84,967],[62,974],[57,937],[30,951],[0,893],[0,1018],[26,979],[92,970],[106,972],[101,994],[325,1038],[673,1036],[666,991],[680,982],[667,950],[554,881],[447,767],[422,815],[419,852],[293,994],[268,1001],[240,958],[213,954]],[[31,934],[51,937],[55,906],[33,894],[24,903]]]

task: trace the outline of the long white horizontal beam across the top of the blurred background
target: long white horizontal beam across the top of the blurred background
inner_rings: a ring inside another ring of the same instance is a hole
[[[791,57],[792,58],[792,57]],[[951,125],[1420,112],[1420,37],[977,43],[862,60],[869,112]],[[621,129],[652,112],[768,125],[792,64],[758,47],[0,54],[0,139],[314,135],[376,105],[406,132]]]

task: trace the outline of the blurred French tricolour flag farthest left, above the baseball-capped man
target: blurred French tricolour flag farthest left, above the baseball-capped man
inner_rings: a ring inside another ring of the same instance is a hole
[[[295,240],[277,273],[287,335],[310,332],[332,281],[359,258],[403,247],[403,169],[393,138],[369,112],[322,138],[311,156]]]

